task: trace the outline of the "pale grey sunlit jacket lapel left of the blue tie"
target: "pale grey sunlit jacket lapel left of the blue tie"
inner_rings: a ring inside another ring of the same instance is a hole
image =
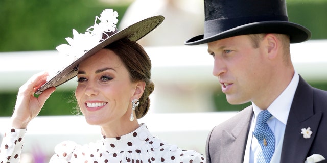
[[[236,117],[238,123],[233,128],[223,130],[220,162],[243,162],[252,115],[253,109],[249,106]]]

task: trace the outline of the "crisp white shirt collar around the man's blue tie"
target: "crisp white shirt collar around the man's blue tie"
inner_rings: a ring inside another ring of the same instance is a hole
[[[267,110],[273,117],[286,125],[294,94],[299,82],[299,75],[294,72],[293,78],[286,89],[270,104]],[[255,119],[262,110],[252,102]]]

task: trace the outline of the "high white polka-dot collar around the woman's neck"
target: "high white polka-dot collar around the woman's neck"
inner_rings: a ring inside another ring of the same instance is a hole
[[[152,138],[153,136],[149,132],[147,126],[142,123],[135,131],[122,135],[121,137],[103,137],[102,143],[105,147],[105,151],[109,153],[120,153],[137,149],[149,142]]]

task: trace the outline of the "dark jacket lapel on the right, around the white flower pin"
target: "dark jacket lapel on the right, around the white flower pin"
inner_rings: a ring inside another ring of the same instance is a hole
[[[281,162],[304,162],[316,135],[321,112],[313,111],[313,89],[300,77],[288,116]],[[311,128],[311,138],[305,139],[302,128]]]

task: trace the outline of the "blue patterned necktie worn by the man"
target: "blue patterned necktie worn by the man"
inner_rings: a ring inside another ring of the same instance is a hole
[[[258,163],[269,163],[275,151],[275,136],[267,124],[272,115],[267,111],[261,111],[254,128],[254,137],[258,140],[261,151],[258,155]]]

